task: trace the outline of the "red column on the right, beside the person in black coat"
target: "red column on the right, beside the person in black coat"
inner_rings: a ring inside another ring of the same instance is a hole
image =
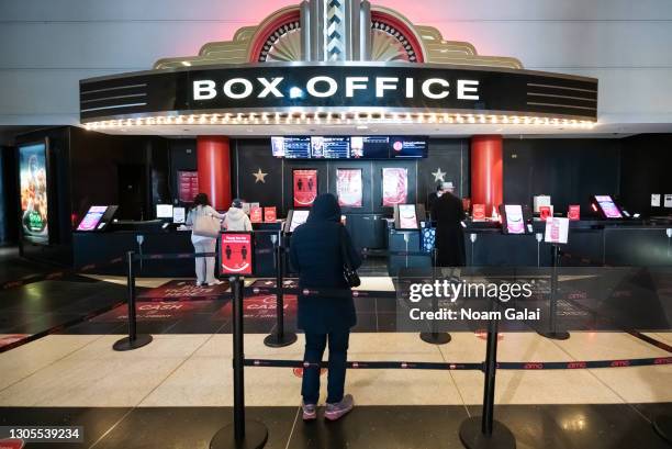
[[[471,137],[471,204],[485,204],[485,214],[504,201],[502,136]]]

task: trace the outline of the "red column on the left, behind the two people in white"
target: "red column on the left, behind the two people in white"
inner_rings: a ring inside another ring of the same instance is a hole
[[[226,136],[198,136],[197,160],[199,190],[208,194],[212,206],[231,206],[231,150]]]

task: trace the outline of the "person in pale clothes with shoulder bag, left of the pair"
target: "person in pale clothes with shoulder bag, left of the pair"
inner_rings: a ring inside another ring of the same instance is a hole
[[[215,211],[208,200],[205,193],[199,193],[193,199],[193,209],[189,211],[187,215],[187,225],[193,226],[195,222],[203,216],[214,216],[217,220],[224,218],[224,215]],[[191,243],[193,244],[194,251],[198,252],[214,252],[217,246],[217,239],[212,237],[205,237],[202,235],[194,235],[191,233]],[[201,287],[204,283],[208,285],[217,285],[222,282],[214,277],[214,257],[197,257],[195,258],[195,274],[197,274],[197,287]]]

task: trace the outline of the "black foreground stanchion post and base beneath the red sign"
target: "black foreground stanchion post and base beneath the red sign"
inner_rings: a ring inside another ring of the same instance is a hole
[[[233,424],[222,427],[210,441],[211,449],[260,449],[268,440],[262,423],[245,418],[245,371],[243,329],[243,278],[229,278],[233,290]]]

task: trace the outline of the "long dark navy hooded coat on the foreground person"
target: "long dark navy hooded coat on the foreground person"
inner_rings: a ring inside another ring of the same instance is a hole
[[[361,258],[340,224],[336,197],[326,193],[315,199],[307,221],[294,229],[290,263],[299,272],[300,288],[349,289],[343,277],[341,237],[354,269]],[[328,334],[355,326],[352,296],[322,298],[299,295],[298,327],[306,333]]]

